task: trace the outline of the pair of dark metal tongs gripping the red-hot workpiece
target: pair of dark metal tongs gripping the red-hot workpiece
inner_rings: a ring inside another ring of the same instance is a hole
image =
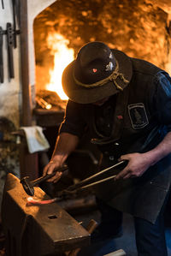
[[[113,170],[116,168],[125,168],[125,166],[127,165],[127,160],[122,160],[114,165],[109,166],[108,168],[101,170],[99,172],[97,172],[95,175],[93,176],[89,176],[87,178],[85,178],[85,180],[82,180],[72,186],[69,186],[68,188],[59,191],[57,193],[57,198],[56,199],[63,199],[63,198],[68,198],[69,196],[72,196],[74,193],[80,192],[80,190],[84,190],[85,188],[90,188],[93,187],[99,183],[103,183],[103,182],[107,182],[109,180],[112,180],[116,177],[116,175],[112,175],[112,176],[108,176],[106,178],[103,178],[101,180],[98,180],[96,182],[91,182],[89,184],[87,184],[87,182],[90,182],[92,179],[96,178],[97,176],[102,176],[104,173],[106,173],[109,170]]]

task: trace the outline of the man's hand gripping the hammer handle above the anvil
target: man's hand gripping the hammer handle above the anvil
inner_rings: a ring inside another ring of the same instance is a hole
[[[47,164],[45,167],[44,167],[44,171],[43,171],[43,174],[44,176],[46,174],[51,174],[52,172],[56,171],[56,175],[53,176],[52,178],[50,178],[47,182],[58,182],[59,179],[61,178],[62,176],[62,172],[61,171],[57,171],[58,168],[61,167],[61,164],[59,163],[58,160],[50,160],[50,163]]]

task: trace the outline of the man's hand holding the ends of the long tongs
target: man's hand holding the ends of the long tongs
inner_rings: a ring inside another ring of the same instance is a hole
[[[119,179],[128,179],[140,177],[150,167],[150,158],[146,153],[131,153],[121,156],[120,160],[128,160],[127,166],[115,177],[115,181]]]

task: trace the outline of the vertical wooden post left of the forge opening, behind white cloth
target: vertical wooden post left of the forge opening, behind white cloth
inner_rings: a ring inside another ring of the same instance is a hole
[[[21,126],[32,126],[32,96],[29,78],[29,49],[28,49],[28,16],[27,2],[21,1]],[[30,154],[27,151],[25,140],[21,140],[20,147],[21,178],[38,177],[38,153]]]

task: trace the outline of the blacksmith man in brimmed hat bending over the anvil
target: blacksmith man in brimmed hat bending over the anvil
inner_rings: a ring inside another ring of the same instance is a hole
[[[44,174],[61,166],[88,131],[103,152],[103,166],[127,160],[115,180],[96,188],[98,230],[103,237],[117,235],[121,212],[128,212],[139,255],[167,255],[163,210],[171,182],[171,78],[151,63],[91,42],[65,68],[62,86],[69,98],[66,116]],[[50,182],[61,175],[56,172]]]

